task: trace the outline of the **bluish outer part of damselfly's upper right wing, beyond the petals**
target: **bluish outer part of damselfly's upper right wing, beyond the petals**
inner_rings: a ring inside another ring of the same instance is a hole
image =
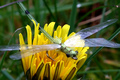
[[[89,28],[85,28],[85,29],[82,29],[81,31],[77,32],[75,35],[80,35],[82,39],[100,31],[101,29],[115,23],[117,21],[117,19],[111,19],[111,20],[108,20],[106,22],[103,22],[101,24],[98,24],[98,25],[95,25],[93,27],[89,27]]]

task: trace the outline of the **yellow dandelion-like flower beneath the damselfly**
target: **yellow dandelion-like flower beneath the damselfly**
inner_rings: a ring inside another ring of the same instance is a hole
[[[52,44],[52,42],[50,42],[43,33],[40,33],[39,24],[37,25],[35,21],[33,22],[35,26],[34,37],[32,37],[30,26],[26,26],[27,45]],[[68,38],[75,34],[73,32],[68,36],[70,26],[67,24],[65,24],[63,27],[58,26],[57,29],[53,31],[54,25],[55,22],[51,22],[49,25],[45,24],[44,30],[53,36],[54,39],[61,39],[62,43],[64,43]],[[19,34],[19,40],[20,45],[25,44],[21,33]],[[87,49],[89,49],[89,47],[79,47],[73,49],[78,51],[77,60],[74,60],[71,57],[67,57],[66,54],[60,50],[42,51],[34,55],[22,58],[24,72],[28,80],[70,80],[75,76],[77,70],[86,61],[87,54],[85,52]],[[48,53],[48,55],[54,59],[54,61],[48,58],[46,53]]]

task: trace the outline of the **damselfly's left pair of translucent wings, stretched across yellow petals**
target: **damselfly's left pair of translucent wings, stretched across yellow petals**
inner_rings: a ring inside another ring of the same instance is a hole
[[[14,46],[15,47],[15,46]],[[8,50],[13,50],[14,47],[7,47]],[[19,47],[19,49],[21,49],[21,54],[20,52],[18,53],[15,53],[13,55],[10,55],[10,58],[11,59],[14,59],[14,60],[18,60],[18,59],[21,59],[21,58],[24,58],[24,57],[27,57],[27,56],[30,56],[30,55],[33,55],[35,53],[39,53],[41,51],[47,51],[47,50],[54,50],[54,49],[57,49],[57,48],[60,48],[61,46],[58,45],[58,44],[49,44],[49,45],[30,45],[30,46],[21,46]],[[4,51],[7,50],[7,48],[5,48]],[[16,48],[18,50],[18,48]],[[15,50],[16,50],[15,49]],[[7,51],[8,51],[7,50]]]

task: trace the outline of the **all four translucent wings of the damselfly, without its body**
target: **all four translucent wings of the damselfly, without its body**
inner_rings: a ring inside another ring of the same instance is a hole
[[[105,40],[104,38],[91,38],[91,39],[85,39],[89,37],[90,35],[100,31],[101,29],[115,23],[117,19],[111,19],[106,22],[103,22],[101,24],[98,24],[93,27],[82,29],[81,31],[77,32],[75,35],[70,37],[66,42],[64,43],[67,47],[113,47],[113,48],[119,48],[120,44],[114,43],[108,40]],[[33,55],[35,53],[38,53],[40,51],[47,51],[47,50],[54,50],[58,49],[61,46],[59,44],[48,44],[48,45],[14,45],[14,46],[0,46],[0,51],[12,51],[12,50],[20,50],[22,48],[22,52],[16,53],[10,56],[12,59],[21,59],[30,55]],[[22,56],[21,56],[22,55]]]

